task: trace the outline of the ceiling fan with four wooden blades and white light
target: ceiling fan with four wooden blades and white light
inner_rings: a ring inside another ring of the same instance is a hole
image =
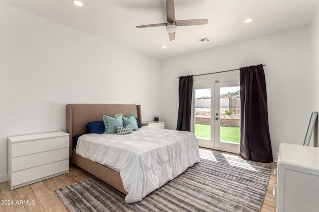
[[[168,32],[169,40],[172,41],[175,39],[175,31],[177,26],[201,25],[201,24],[207,24],[208,22],[208,19],[176,20],[174,0],[166,0],[166,18],[167,18],[167,23],[140,25],[140,26],[136,26],[136,28],[166,26],[166,31]]]

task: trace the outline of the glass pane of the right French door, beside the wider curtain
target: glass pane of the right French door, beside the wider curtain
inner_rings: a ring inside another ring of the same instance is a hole
[[[220,87],[220,141],[240,142],[239,86]]]

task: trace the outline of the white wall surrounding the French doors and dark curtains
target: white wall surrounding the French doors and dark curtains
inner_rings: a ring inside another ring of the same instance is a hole
[[[278,152],[281,142],[303,144],[312,97],[310,24],[163,60],[160,109],[165,128],[176,129],[178,76],[258,64],[266,65],[264,70],[273,155]],[[215,80],[220,76],[211,74],[204,78]]]

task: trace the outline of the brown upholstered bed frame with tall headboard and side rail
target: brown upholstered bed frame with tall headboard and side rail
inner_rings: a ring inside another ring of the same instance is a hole
[[[120,173],[107,168],[99,163],[81,157],[72,150],[73,137],[85,134],[85,125],[88,122],[100,121],[103,115],[114,117],[117,113],[129,116],[136,115],[142,123],[141,105],[133,104],[68,104],[66,105],[67,133],[70,134],[70,162],[81,167],[90,174],[103,180],[110,186],[116,188],[124,194],[128,194],[120,177]]]

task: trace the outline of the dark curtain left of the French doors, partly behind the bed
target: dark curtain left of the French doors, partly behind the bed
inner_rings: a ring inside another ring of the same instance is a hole
[[[190,132],[191,96],[193,92],[193,75],[180,76],[178,85],[178,119],[179,131]]]

